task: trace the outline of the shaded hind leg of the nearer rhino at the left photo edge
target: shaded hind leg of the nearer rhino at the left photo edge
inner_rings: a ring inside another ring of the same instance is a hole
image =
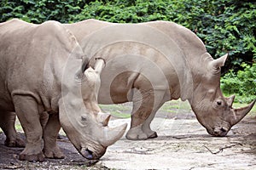
[[[15,130],[15,112],[0,112],[0,127],[6,135],[4,144],[9,147],[24,147],[25,141],[21,139]]]

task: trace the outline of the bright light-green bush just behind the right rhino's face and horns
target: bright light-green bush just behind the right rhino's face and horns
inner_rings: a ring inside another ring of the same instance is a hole
[[[221,88],[224,94],[238,94],[241,96],[239,102],[249,102],[256,99],[256,64],[252,66],[241,64],[243,71],[235,73],[230,70],[221,79]],[[236,98],[238,99],[238,98]]]

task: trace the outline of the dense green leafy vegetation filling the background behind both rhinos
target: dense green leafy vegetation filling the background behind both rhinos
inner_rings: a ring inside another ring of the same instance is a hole
[[[225,94],[252,95],[249,99],[255,99],[254,0],[2,0],[0,21],[11,18],[32,23],[70,23],[90,18],[123,23],[174,21],[201,37],[213,58],[230,54],[223,69],[227,73],[222,79]],[[247,89],[249,94],[245,94]]]

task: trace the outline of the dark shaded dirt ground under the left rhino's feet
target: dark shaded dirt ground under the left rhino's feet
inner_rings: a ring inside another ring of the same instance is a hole
[[[24,138],[24,133],[20,133]],[[45,159],[44,162],[19,161],[23,148],[4,145],[5,136],[0,133],[0,169],[108,169],[98,161],[88,161],[79,155],[66,136],[61,136],[58,144],[65,154],[64,159]]]

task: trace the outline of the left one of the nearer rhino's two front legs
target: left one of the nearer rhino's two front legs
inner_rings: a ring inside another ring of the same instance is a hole
[[[26,135],[25,149],[20,153],[20,160],[44,161],[41,148],[43,129],[39,121],[38,103],[30,95],[14,95],[15,112]]]

